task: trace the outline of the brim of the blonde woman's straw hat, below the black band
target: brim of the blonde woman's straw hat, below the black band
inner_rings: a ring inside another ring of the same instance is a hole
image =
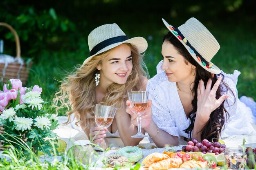
[[[146,41],[145,38],[143,37],[134,37],[134,38],[130,38],[129,40],[125,40],[123,42],[117,42],[115,44],[111,44],[109,46],[106,46],[105,48],[101,49],[100,51],[98,51],[96,54],[91,55],[90,57],[88,57],[87,59],[85,59],[85,61],[83,62],[83,65],[85,65],[86,63],[88,63],[92,57],[94,57],[95,55],[98,55],[100,53],[103,53],[105,51],[108,51],[110,49],[115,48],[116,46],[119,46],[121,44],[124,43],[129,43],[132,44],[139,53],[143,53],[144,51],[146,51],[146,49],[148,48],[148,42]]]

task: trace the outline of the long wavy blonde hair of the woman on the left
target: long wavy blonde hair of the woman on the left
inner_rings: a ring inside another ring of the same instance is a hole
[[[101,102],[103,105],[115,106],[118,109],[126,108],[127,93],[129,91],[142,90],[140,79],[143,76],[149,78],[142,55],[131,44],[124,44],[128,45],[132,52],[132,74],[130,74],[125,84],[111,84]],[[84,129],[89,128],[90,123],[94,122],[94,110],[95,104],[97,104],[94,78],[95,74],[98,73],[96,66],[101,64],[113,49],[92,57],[88,63],[82,66],[77,66],[74,73],[71,73],[62,80],[59,91],[55,93],[53,107],[56,107],[57,111],[61,108],[68,108],[68,120],[65,124],[70,123],[72,114],[74,114],[78,122],[85,121]],[[85,119],[81,120],[81,117]]]

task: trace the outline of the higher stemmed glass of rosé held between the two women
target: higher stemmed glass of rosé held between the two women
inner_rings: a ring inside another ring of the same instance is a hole
[[[147,137],[143,133],[141,133],[141,115],[143,115],[148,107],[148,91],[131,91],[128,92],[128,99],[132,103],[132,113],[138,114],[137,124],[138,124],[138,132],[136,135],[131,137]]]

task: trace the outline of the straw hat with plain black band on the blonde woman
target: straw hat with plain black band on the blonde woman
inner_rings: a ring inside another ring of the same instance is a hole
[[[143,53],[148,48],[145,38],[135,37],[129,39],[117,24],[105,24],[97,27],[88,35],[88,46],[91,56],[83,62],[83,65],[88,63],[95,55],[123,43],[132,44],[139,53]]]

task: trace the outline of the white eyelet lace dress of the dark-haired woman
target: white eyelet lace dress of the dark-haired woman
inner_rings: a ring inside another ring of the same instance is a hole
[[[168,81],[166,74],[160,68],[161,65],[162,61],[157,65],[157,75],[148,80],[146,87],[146,91],[149,91],[149,99],[152,100],[153,121],[160,129],[170,135],[189,138],[189,135],[183,130],[189,127],[191,121],[186,118],[176,83]],[[234,74],[221,73],[225,77],[223,81],[234,92],[234,96],[228,93],[230,97],[225,102],[225,108],[230,118],[225,129],[222,130],[221,137],[254,132],[254,128],[250,124],[254,122],[252,111],[240,102],[237,95],[236,83],[240,72],[235,70]],[[234,103],[235,98],[236,102]],[[228,106],[228,104],[231,106]],[[150,139],[150,141],[152,140]]]

